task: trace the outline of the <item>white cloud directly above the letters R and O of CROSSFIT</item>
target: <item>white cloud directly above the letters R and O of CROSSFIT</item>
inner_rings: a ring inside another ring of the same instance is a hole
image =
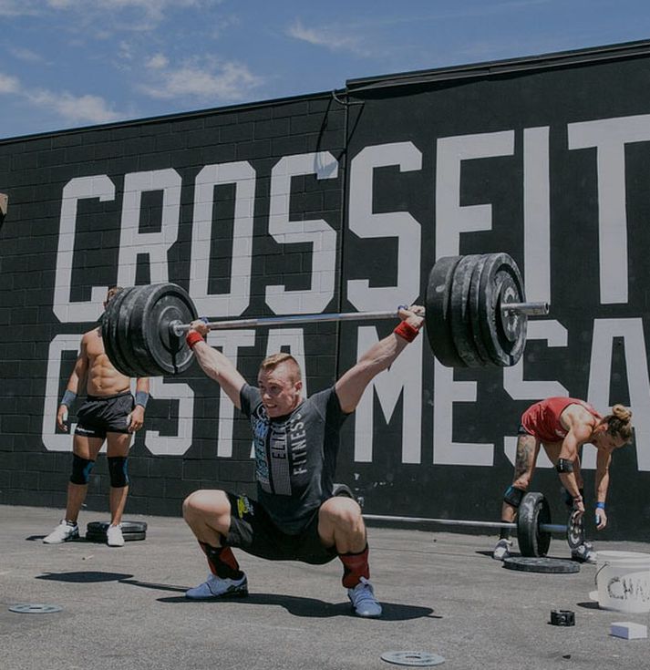
[[[260,77],[241,63],[208,62],[203,67],[191,63],[160,69],[158,77],[139,88],[151,98],[196,98],[200,100],[236,101],[262,83]]]

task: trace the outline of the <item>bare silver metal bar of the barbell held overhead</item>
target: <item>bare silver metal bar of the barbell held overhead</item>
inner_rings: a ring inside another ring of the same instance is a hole
[[[528,315],[549,313],[548,303],[504,303],[504,312],[519,312]],[[424,316],[424,312],[421,313]],[[211,321],[207,323],[209,330],[232,330],[233,328],[255,328],[259,325],[292,325],[322,324],[332,321],[374,321],[378,319],[395,319],[398,313],[392,312],[338,312],[333,314],[287,314],[282,316],[261,316],[252,319],[231,319],[229,321]],[[171,332],[180,337],[190,330],[190,324],[176,321],[170,323]]]

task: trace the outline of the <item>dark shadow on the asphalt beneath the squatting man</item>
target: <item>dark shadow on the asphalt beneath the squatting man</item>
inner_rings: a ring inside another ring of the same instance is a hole
[[[120,580],[121,583],[130,584],[131,586],[139,586],[144,589],[153,589],[156,591],[171,591],[177,593],[184,593],[189,587],[174,586],[170,584],[160,584],[152,582],[139,582],[135,579]],[[304,598],[295,595],[279,595],[276,593],[249,593],[244,598],[224,598],[222,600],[214,598],[211,600],[189,600],[184,595],[169,596],[165,598],[158,598],[159,603],[184,603],[184,604],[209,604],[209,603],[240,603],[251,605],[276,605],[284,607],[284,609],[295,616],[315,617],[326,619],[332,616],[353,616],[350,609],[350,603],[325,603],[325,601],[317,598]],[[384,608],[384,613],[381,617],[382,621],[408,621],[409,619],[442,619],[433,613],[430,607],[416,607],[413,605],[403,605],[398,603],[381,603]],[[358,617],[355,617],[358,618]]]

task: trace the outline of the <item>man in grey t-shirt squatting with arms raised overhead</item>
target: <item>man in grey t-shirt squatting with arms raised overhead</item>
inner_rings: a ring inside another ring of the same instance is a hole
[[[366,527],[356,500],[333,496],[339,431],[364,389],[387,369],[423,325],[418,305],[399,310],[401,323],[361,356],[333,387],[304,399],[293,356],[264,359],[257,387],[203,339],[208,327],[191,324],[188,344],[207,376],[222,387],[253,431],[257,500],[224,490],[198,490],[183,503],[183,516],[211,574],[190,589],[195,600],[242,596],[246,576],[232,548],[271,561],[343,563],[343,585],[359,616],[381,616],[369,581]]]

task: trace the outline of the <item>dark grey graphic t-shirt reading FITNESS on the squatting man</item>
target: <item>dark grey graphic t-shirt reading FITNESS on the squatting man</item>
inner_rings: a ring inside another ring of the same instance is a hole
[[[348,416],[334,387],[269,418],[257,388],[244,384],[242,412],[251,420],[258,500],[275,525],[297,535],[332,496],[339,430]]]

